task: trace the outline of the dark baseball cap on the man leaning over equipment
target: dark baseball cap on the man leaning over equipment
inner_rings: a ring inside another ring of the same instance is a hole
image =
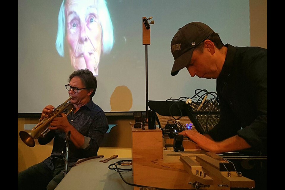
[[[171,75],[175,76],[191,61],[194,47],[207,39],[213,30],[201,22],[188,23],[180,28],[172,38],[170,49],[174,58]]]

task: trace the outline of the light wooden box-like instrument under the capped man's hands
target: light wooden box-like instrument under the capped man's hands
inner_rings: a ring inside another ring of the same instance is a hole
[[[235,170],[235,165],[214,153],[195,149],[183,140],[185,151],[163,147],[162,130],[132,126],[134,184],[154,189],[253,189],[255,181]],[[139,187],[134,187],[139,189]]]

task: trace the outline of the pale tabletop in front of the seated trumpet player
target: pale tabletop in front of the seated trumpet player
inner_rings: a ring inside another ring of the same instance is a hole
[[[116,158],[107,163],[99,162],[106,158],[91,159],[82,162],[66,174],[63,180],[58,184],[56,190],[133,190],[134,187],[126,184],[119,173],[110,170],[108,166],[119,160],[130,160],[131,158]],[[119,168],[132,168],[132,166],[120,166]],[[133,183],[132,171],[121,172],[124,179]]]

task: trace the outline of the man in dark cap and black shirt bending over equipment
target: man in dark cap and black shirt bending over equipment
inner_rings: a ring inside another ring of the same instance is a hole
[[[267,49],[224,45],[208,25],[192,22],[171,41],[171,75],[216,79],[220,121],[200,134],[181,132],[213,153],[252,149],[267,155]]]

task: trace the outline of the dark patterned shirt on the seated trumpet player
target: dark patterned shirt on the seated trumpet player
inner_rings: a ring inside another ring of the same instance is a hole
[[[78,159],[97,156],[99,145],[101,144],[104,134],[108,130],[108,121],[104,111],[92,99],[76,113],[67,115],[69,123],[84,135],[84,145],[82,148],[76,148],[70,141],[68,153],[68,165],[75,164]],[[53,140],[53,151],[43,162],[53,170],[53,158],[65,158],[66,151],[66,134],[59,130],[51,131],[45,138],[40,138],[39,144],[47,144]],[[86,143],[87,142],[87,143]]]

